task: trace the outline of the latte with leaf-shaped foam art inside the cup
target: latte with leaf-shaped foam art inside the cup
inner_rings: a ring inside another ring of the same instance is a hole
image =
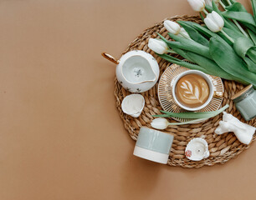
[[[177,100],[186,107],[200,107],[209,97],[207,81],[200,75],[191,73],[181,77],[176,85]]]

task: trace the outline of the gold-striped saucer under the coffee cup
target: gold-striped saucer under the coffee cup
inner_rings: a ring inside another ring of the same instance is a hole
[[[182,72],[185,72],[188,69],[187,67],[182,67],[177,64],[172,64],[170,67],[166,68],[166,71],[162,73],[159,84],[158,84],[158,98],[161,104],[161,107],[164,111],[167,112],[189,112],[187,110],[182,109],[182,107],[178,107],[173,100],[172,97],[172,88],[171,83],[173,78],[177,77]],[[223,81],[220,77],[215,77],[208,75],[212,79],[213,86],[215,87],[216,92],[224,92]],[[197,112],[211,112],[218,110],[223,102],[223,97],[212,97],[212,101],[206,107],[203,107],[201,110]],[[172,117],[178,122],[187,122],[192,119],[187,118],[178,118]],[[202,120],[203,122],[205,120]]]

